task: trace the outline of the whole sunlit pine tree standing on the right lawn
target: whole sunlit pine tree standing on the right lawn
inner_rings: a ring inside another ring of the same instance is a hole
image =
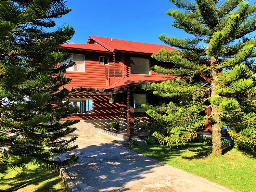
[[[144,104],[147,114],[159,120],[160,133],[153,136],[171,146],[184,144],[196,136],[195,130],[209,119],[212,123],[212,153],[221,155],[221,127],[235,141],[256,145],[256,108],[250,100],[256,94],[253,76],[256,57],[256,5],[243,0],[170,0],[180,10],[169,10],[174,27],[189,33],[191,38],[159,36],[177,50],[162,49],[153,54],[156,60],[172,62],[176,68],[153,66],[160,74],[186,76],[190,80],[143,83],[139,86],[156,96],[183,98],[175,104]],[[203,76],[207,81],[203,82]],[[207,93],[210,91],[210,95]],[[211,107],[211,114],[200,112]],[[168,134],[164,136],[164,134]]]

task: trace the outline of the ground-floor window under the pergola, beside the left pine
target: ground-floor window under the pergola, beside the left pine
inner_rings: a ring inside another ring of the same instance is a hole
[[[93,112],[93,99],[92,98],[70,98],[70,105],[78,106],[79,113],[92,113]]]

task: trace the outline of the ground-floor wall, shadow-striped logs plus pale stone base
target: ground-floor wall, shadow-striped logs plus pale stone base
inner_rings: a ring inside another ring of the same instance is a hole
[[[93,113],[72,114],[67,120],[80,120],[70,128],[76,128],[69,136],[105,133],[110,128],[109,122],[117,120],[120,129],[127,130],[126,93],[116,94],[114,103],[109,103],[108,96],[69,96],[69,98],[93,98]],[[124,137],[123,139],[129,139]]]

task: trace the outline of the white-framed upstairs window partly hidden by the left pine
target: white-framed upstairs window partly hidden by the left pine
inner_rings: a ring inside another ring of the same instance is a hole
[[[67,71],[75,71],[75,72],[84,72],[85,71],[84,55],[72,54],[70,60],[73,60],[76,64],[73,67],[68,68]],[[60,66],[66,62],[61,62]]]

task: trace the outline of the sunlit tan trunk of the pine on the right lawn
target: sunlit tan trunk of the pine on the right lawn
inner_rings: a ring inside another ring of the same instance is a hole
[[[216,63],[215,57],[211,58],[211,66],[213,66]],[[211,82],[211,96],[218,96],[215,95],[215,88],[218,86],[218,83],[216,82],[217,80],[218,73],[214,69],[211,70],[211,77],[212,77],[212,82]],[[215,119],[215,123],[212,126],[212,154],[214,155],[222,155],[222,150],[221,150],[221,126],[220,126],[220,120],[219,120],[219,115],[217,113],[216,106],[213,105],[211,109],[211,113],[213,114],[213,118]]]

